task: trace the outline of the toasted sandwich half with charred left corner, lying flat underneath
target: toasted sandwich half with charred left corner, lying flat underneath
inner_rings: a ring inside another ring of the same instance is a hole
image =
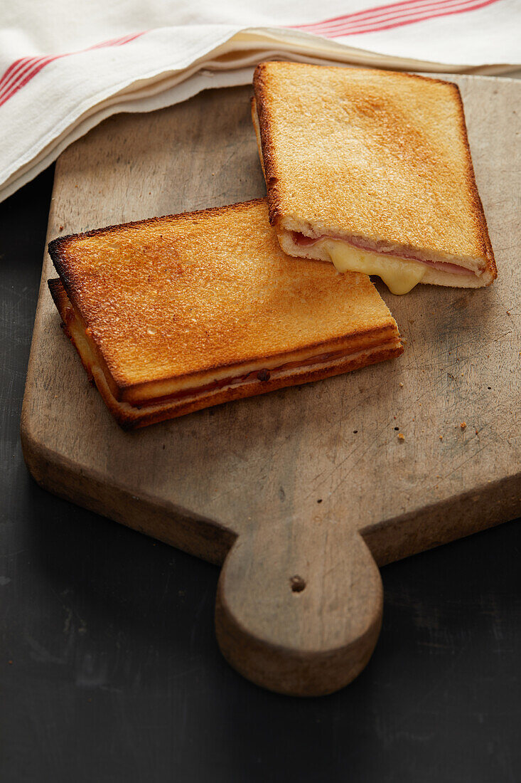
[[[66,334],[125,427],[403,350],[368,276],[287,257],[264,200],[64,236],[49,253]]]

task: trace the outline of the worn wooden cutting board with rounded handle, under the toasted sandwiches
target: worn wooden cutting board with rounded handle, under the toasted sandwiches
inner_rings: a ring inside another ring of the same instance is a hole
[[[521,84],[449,78],[499,278],[402,298],[381,287],[400,359],[125,433],[60,330],[45,254],[21,424],[29,470],[222,564],[221,650],[274,691],[325,694],[361,671],[382,618],[377,565],[521,514]],[[49,239],[263,195],[249,96],[204,92],[95,128],[56,165]]]

